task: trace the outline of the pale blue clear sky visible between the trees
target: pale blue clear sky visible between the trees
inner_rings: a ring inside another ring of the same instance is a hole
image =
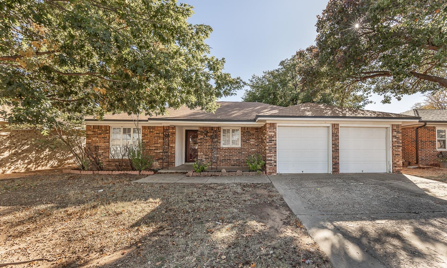
[[[180,0],[194,6],[190,23],[213,28],[207,43],[211,54],[225,58],[225,71],[247,81],[253,74],[278,67],[281,60],[295,51],[314,44],[316,15],[325,9],[328,0]],[[244,90],[222,98],[240,101]],[[405,96],[400,102],[382,104],[374,95],[365,109],[400,113],[407,111],[423,96]]]

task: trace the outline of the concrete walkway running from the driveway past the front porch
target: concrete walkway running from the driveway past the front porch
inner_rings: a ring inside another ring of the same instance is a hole
[[[270,179],[266,175],[186,177],[185,174],[155,174],[135,183],[270,183]]]

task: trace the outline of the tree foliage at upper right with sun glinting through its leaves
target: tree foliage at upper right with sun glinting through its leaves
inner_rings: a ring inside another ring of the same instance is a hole
[[[447,2],[332,0],[316,23],[319,68],[384,96],[447,88]]]

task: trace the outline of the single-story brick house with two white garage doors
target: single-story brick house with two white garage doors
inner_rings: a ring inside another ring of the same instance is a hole
[[[267,174],[398,173],[402,167],[401,124],[414,115],[315,103],[290,107],[259,102],[218,102],[215,113],[181,107],[166,115],[105,115],[85,118],[86,145],[99,145],[106,169],[123,146],[139,137],[154,168],[173,169],[194,159],[211,168],[245,167],[260,154]],[[189,168],[190,170],[191,168]]]

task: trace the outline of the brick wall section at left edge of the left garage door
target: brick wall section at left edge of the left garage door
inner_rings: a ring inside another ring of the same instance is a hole
[[[276,174],[276,123],[266,123],[261,128],[261,155],[266,161],[267,175]]]

